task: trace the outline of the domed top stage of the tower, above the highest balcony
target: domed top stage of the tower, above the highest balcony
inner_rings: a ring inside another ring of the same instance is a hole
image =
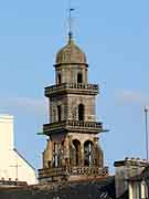
[[[87,59],[75,44],[72,33],[68,34],[67,44],[57,52],[55,62],[56,84],[87,83]]]

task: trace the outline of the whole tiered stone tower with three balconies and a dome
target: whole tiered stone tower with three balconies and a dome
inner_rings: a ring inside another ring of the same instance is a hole
[[[43,125],[49,137],[43,153],[41,182],[103,178],[104,167],[96,122],[95,98],[97,84],[88,83],[85,53],[75,44],[72,34],[67,44],[56,54],[55,85],[45,87],[50,121]]]

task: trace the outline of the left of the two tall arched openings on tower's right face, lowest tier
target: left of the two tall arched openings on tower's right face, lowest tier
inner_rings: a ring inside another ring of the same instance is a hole
[[[73,165],[79,166],[81,161],[81,143],[77,139],[73,140]]]

